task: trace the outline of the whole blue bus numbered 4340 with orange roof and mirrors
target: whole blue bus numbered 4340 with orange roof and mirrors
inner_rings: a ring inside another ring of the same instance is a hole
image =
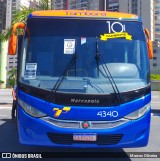
[[[17,28],[24,29],[17,43]],[[17,44],[20,44],[19,47]],[[34,11],[13,26],[21,144],[146,146],[152,43],[141,19],[105,11]]]

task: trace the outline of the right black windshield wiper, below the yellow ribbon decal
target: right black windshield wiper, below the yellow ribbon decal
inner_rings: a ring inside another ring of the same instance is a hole
[[[118,89],[113,77],[112,77],[112,74],[110,73],[110,71],[109,71],[109,69],[108,69],[108,67],[107,67],[107,65],[106,65],[106,63],[103,59],[103,56],[98,52],[98,39],[97,39],[97,37],[96,37],[96,56],[95,56],[95,59],[96,59],[96,62],[97,62],[97,75],[99,76],[99,72],[100,72],[104,77],[107,76],[107,78],[108,78],[108,80],[109,80],[109,82],[110,82],[110,84],[113,88],[115,98],[120,105],[120,103],[122,103],[121,94],[119,92],[119,89]],[[101,65],[102,65],[102,68],[103,68],[105,74],[99,69],[99,61],[101,62]]]

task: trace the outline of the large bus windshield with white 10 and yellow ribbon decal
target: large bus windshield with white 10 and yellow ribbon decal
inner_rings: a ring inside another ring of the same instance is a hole
[[[52,90],[63,76],[58,92],[108,94],[112,76],[119,92],[131,91],[149,84],[147,53],[141,22],[30,18],[19,79]]]

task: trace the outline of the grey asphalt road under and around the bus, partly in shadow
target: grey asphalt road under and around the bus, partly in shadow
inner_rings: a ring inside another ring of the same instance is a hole
[[[7,93],[7,95],[6,95]],[[106,161],[106,160],[117,160],[117,161],[160,161],[160,158],[129,158],[128,155],[130,154],[136,154],[135,152],[142,152],[145,154],[149,154],[149,152],[152,152],[155,154],[156,152],[159,152],[160,156],[160,139],[159,139],[159,132],[160,132],[160,94],[159,92],[152,92],[152,108],[153,108],[153,114],[151,117],[151,130],[150,130],[150,138],[149,138],[149,144],[146,147],[143,148],[124,148],[124,149],[57,149],[57,148],[50,148],[50,147],[36,147],[36,146],[25,146],[19,144],[18,141],[18,135],[16,130],[16,122],[15,120],[11,120],[11,104],[8,104],[7,101],[12,99],[6,98],[10,97],[8,94],[10,92],[3,92],[0,93],[0,152],[20,152],[20,153],[39,153],[39,152],[49,152],[58,155],[59,158],[56,158],[54,160],[56,161]],[[4,99],[2,99],[4,97]],[[5,96],[4,96],[5,95]],[[3,102],[1,102],[3,101]],[[10,103],[11,103],[10,102]],[[104,153],[99,153],[99,152]],[[65,158],[63,152],[68,152],[68,156]],[[81,152],[80,154],[76,152]],[[86,156],[84,152],[87,153],[88,156]],[[107,154],[111,154],[113,152],[112,158],[107,158]],[[120,152],[120,153],[117,153]],[[60,153],[60,154],[59,154]],[[77,154],[77,155],[75,155]],[[113,158],[113,156],[117,156],[117,154],[123,155],[125,158]],[[83,157],[84,158],[81,158]],[[61,157],[61,158],[60,158]],[[11,159],[15,160],[15,159]],[[31,159],[28,159],[31,160]],[[34,159],[35,160],[35,159]],[[41,159],[42,160],[42,159]],[[43,160],[53,160],[53,159],[46,159],[43,158]]]

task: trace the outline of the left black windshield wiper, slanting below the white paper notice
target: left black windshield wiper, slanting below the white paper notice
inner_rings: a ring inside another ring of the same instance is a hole
[[[56,84],[54,85],[54,87],[52,88],[52,92],[54,92],[54,95],[56,94],[56,91],[58,90],[59,86],[61,85],[63,79],[65,78],[65,74],[67,73],[67,71],[73,66],[73,64],[76,62],[77,59],[77,54],[73,54],[72,59],[70,60],[70,62],[68,63],[68,65],[66,66],[64,72],[62,73],[62,75],[58,78]],[[76,72],[75,72],[76,74]]]

